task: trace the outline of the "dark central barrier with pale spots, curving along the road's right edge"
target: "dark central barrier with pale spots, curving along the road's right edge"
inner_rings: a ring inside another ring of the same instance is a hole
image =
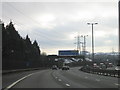
[[[87,67],[82,67],[80,70],[87,73],[120,78],[119,70],[104,70],[104,69],[94,69],[94,68],[87,68]]]

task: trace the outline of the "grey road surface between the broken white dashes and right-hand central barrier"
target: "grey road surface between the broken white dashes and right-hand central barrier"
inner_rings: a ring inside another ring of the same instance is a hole
[[[72,68],[69,71],[57,71],[56,76],[71,84],[73,88],[118,88],[118,79],[78,71]]]

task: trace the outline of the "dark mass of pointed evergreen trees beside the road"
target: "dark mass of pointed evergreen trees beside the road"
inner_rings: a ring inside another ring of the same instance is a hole
[[[23,39],[10,22],[2,24],[2,66],[3,69],[21,69],[40,66],[40,49],[37,41],[32,44],[29,36]]]

